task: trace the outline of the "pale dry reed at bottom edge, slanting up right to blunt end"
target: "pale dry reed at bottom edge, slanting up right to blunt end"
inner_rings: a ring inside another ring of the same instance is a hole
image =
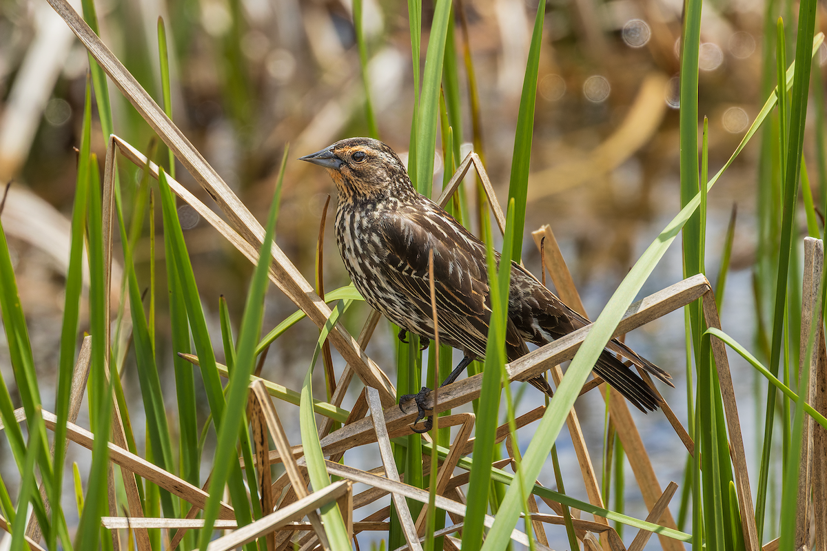
[[[339,497],[351,491],[351,486],[352,482],[348,480],[333,482],[330,486],[323,487],[318,492],[313,492],[269,515],[264,515],[261,519],[254,520],[249,525],[242,526],[231,534],[214,539],[207,546],[207,551],[230,551],[254,539],[261,538],[265,534],[270,534],[288,522],[303,518],[310,511],[315,511],[331,501],[336,501]]]

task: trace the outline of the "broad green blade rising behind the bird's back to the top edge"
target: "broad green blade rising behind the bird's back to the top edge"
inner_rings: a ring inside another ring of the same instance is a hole
[[[528,197],[528,169],[531,164],[531,146],[534,131],[534,104],[537,102],[537,78],[540,70],[540,46],[543,44],[543,21],[546,16],[546,2],[538,2],[537,16],[523,78],[523,93],[519,101],[517,131],[514,135],[514,154],[511,156],[511,178],[509,180],[509,201],[514,200],[517,209],[514,216],[514,262],[519,263],[523,249],[523,227],[525,226],[525,205]],[[510,204],[510,203],[509,203]],[[509,207],[510,208],[510,207]]]

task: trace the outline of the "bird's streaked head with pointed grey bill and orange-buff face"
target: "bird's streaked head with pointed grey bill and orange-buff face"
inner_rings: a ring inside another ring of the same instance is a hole
[[[348,138],[299,160],[327,169],[343,201],[404,199],[414,193],[399,156],[380,140]]]

